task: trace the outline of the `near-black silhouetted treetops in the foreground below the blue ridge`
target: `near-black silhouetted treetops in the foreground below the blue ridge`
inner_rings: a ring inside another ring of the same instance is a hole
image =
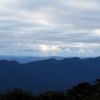
[[[0,94],[0,100],[100,100],[100,79],[96,79],[94,84],[79,83],[66,92],[46,91],[34,95],[16,88],[7,90],[6,94]]]

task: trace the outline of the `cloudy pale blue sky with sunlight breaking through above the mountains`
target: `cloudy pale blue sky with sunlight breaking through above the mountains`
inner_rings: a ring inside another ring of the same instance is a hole
[[[0,0],[0,55],[100,56],[100,0]]]

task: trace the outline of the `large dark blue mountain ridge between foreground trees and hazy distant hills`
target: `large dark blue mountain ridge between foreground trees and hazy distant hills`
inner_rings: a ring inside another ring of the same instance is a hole
[[[27,64],[0,61],[0,92],[22,88],[33,93],[69,89],[100,78],[100,57],[48,59]]]

